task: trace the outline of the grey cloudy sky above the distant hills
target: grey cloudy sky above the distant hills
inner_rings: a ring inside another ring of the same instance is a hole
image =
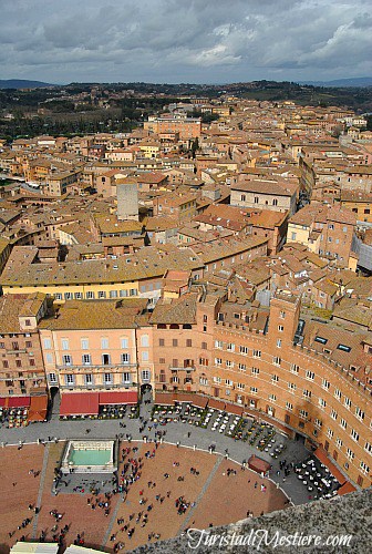
[[[0,79],[372,75],[371,0],[0,0]]]

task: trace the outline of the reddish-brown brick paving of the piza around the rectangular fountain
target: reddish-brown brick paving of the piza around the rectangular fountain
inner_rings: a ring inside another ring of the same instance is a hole
[[[242,471],[240,465],[220,455],[168,444],[159,444],[155,449],[154,443],[123,441],[120,451],[131,449],[127,456],[142,461],[141,478],[130,485],[125,499],[120,493],[111,496],[110,512],[105,515],[104,510],[92,509],[95,499],[105,500],[103,493],[92,495],[89,486],[72,492],[68,486],[69,475],[63,479],[58,495],[54,494],[54,468],[61,459],[63,445],[61,441],[56,444],[2,449],[0,552],[9,552],[9,547],[22,535],[25,541],[31,541],[39,540],[44,533],[45,541],[52,541],[53,534],[59,534],[65,525],[69,531],[64,545],[73,543],[79,533],[85,545],[113,552],[114,545],[122,543],[123,548],[132,550],[147,543],[148,536],[152,541],[155,536],[164,540],[180,534],[187,527],[205,529],[210,524],[241,520],[247,511],[259,515],[262,511],[270,512],[288,505],[286,495],[275,483],[261,480],[250,470]],[[134,452],[133,448],[137,450]],[[154,451],[154,456],[146,456],[146,452],[152,454]],[[192,472],[192,468],[196,471]],[[234,470],[229,476],[228,469]],[[118,475],[122,470],[121,456]],[[265,482],[265,492],[261,491],[261,482]],[[184,514],[178,514],[175,504],[180,496],[188,504]],[[40,512],[35,514],[29,505],[39,506]],[[152,507],[147,510],[148,506]],[[61,521],[55,521],[50,513],[52,511],[62,515]],[[19,530],[18,526],[28,517],[31,523]],[[122,523],[118,524],[117,520]],[[128,530],[135,530],[131,538],[127,530],[123,529],[126,524]],[[52,531],[55,525],[58,529]]]

